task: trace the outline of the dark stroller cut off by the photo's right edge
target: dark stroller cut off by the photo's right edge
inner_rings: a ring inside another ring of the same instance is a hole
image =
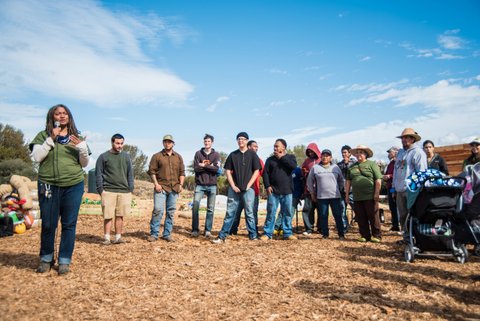
[[[455,240],[473,244],[474,254],[480,256],[480,163],[467,166],[462,173],[467,184],[463,191],[463,208],[454,222]]]

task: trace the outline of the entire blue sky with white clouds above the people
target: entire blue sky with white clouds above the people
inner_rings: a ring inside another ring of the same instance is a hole
[[[437,146],[480,135],[478,1],[0,0],[0,122],[27,139],[63,103],[96,157],[112,134],[148,156],[172,134],[344,144],[374,158],[413,127]]]

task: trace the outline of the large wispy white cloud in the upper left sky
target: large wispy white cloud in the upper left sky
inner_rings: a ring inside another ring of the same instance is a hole
[[[3,1],[0,83],[7,85],[0,93],[108,107],[182,102],[192,86],[152,66],[144,49],[161,39],[180,43],[181,28],[153,15],[113,13],[96,1]]]

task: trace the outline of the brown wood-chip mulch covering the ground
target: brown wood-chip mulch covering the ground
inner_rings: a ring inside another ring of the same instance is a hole
[[[100,244],[101,216],[81,215],[71,273],[63,277],[35,273],[39,228],[1,238],[0,319],[480,319],[480,258],[405,263],[387,224],[381,244],[355,242],[353,229],[345,241],[332,232],[326,240],[314,234],[265,243],[241,230],[215,245],[191,238],[188,212],[179,212],[175,242],[149,243],[150,210],[127,219],[130,243],[110,246]],[[223,214],[216,213],[215,234]]]

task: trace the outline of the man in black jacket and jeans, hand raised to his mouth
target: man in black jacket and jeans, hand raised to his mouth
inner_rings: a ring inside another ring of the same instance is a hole
[[[292,234],[292,172],[297,167],[297,160],[294,155],[287,154],[286,148],[287,142],[282,138],[277,139],[273,146],[273,156],[265,162],[263,185],[267,190],[268,202],[262,241],[268,241],[273,236],[275,215],[279,204],[280,211],[283,213],[283,238],[297,239]]]

